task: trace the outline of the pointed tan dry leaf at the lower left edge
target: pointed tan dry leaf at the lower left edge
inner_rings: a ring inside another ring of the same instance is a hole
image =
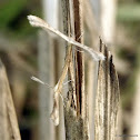
[[[0,61],[0,140],[21,140],[4,66]]]

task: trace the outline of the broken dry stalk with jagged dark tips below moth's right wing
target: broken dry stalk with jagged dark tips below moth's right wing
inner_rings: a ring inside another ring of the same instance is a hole
[[[99,62],[94,140],[114,140],[120,96],[119,81],[112,56],[101,40],[100,51],[106,56],[106,60]]]

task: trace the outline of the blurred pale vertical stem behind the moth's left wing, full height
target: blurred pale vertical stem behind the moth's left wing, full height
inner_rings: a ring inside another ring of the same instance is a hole
[[[58,29],[58,0],[42,0],[44,19],[53,28]],[[41,33],[39,38],[39,74],[40,79],[54,84],[54,41],[48,33]],[[52,90],[44,86],[39,88],[39,110],[40,110],[40,140],[54,140],[56,131],[50,120],[52,109]]]

